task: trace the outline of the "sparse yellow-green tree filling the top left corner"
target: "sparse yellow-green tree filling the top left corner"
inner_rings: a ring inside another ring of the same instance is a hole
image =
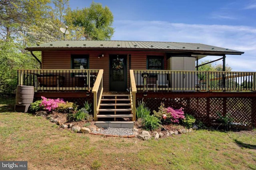
[[[50,0],[0,0],[0,39],[25,43],[26,29],[48,16]],[[26,45],[26,44],[24,44]]]

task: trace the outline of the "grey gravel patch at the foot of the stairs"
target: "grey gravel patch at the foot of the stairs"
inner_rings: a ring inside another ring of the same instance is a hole
[[[132,135],[133,134],[133,130],[132,128],[105,128],[105,129],[101,129],[100,131],[98,131],[97,133],[101,133],[101,134],[113,134],[113,135],[120,135],[120,136],[124,136],[124,135]]]

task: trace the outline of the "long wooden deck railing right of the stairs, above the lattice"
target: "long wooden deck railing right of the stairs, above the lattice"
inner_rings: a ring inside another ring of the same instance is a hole
[[[256,91],[256,72],[134,70],[138,91]]]

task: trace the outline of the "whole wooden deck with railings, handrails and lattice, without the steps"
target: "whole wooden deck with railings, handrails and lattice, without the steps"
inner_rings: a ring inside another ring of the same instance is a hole
[[[42,73],[50,76],[40,82],[38,77],[42,77]],[[149,76],[144,78],[143,73]],[[84,76],[81,87],[74,75],[89,76]],[[64,77],[62,82],[58,82],[60,76]],[[175,109],[183,107],[185,113],[206,125],[218,119],[218,112],[223,116],[232,115],[234,123],[246,128],[256,127],[255,76],[255,72],[130,70],[132,116],[128,117],[136,120],[136,105],[143,99],[151,111],[157,111],[161,102]],[[95,78],[93,83],[89,77]],[[40,85],[42,82],[44,86]],[[94,106],[95,120],[102,111],[103,70],[18,70],[18,84],[33,85],[36,98],[64,98],[78,105],[89,101]]]

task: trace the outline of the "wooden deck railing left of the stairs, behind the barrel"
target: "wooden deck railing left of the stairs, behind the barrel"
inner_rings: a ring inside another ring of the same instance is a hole
[[[99,69],[20,69],[18,85],[35,91],[90,91]]]

